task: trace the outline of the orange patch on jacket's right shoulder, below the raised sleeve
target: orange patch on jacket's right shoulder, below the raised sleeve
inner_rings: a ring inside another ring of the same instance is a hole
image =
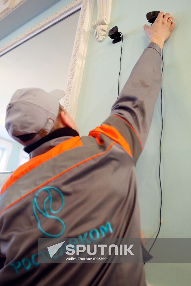
[[[101,124],[101,126],[97,126],[93,130],[91,130],[88,136],[95,137],[97,142],[101,144],[101,140],[99,138],[100,133],[105,134],[107,137],[119,143],[119,145],[121,145],[125,149],[125,151],[132,157],[129,144],[125,141],[125,139],[123,138],[123,136],[121,136],[117,129],[115,129],[113,126],[109,126],[103,123]]]

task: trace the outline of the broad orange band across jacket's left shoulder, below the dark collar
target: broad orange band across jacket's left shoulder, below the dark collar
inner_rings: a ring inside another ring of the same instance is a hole
[[[2,188],[1,188],[1,194],[5,192],[5,190],[13,184],[16,180],[18,180],[21,176],[26,174],[27,172],[31,171],[35,167],[39,166],[43,162],[49,160],[50,158],[57,156],[58,154],[77,147],[77,146],[82,146],[82,142],[80,141],[79,136],[72,137],[64,142],[61,142],[60,144],[56,145],[49,151],[47,151],[44,154],[38,155],[32,159],[30,159],[28,162],[25,164],[19,166],[4,182]]]

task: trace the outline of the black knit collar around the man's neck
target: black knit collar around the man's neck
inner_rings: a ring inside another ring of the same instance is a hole
[[[69,127],[63,127],[59,128],[50,134],[46,135],[45,137],[42,137],[40,140],[34,142],[33,144],[30,144],[29,146],[26,146],[24,148],[24,151],[28,154],[32,152],[34,149],[38,148],[40,145],[44,144],[47,141],[50,141],[52,139],[63,137],[63,136],[79,136],[78,132],[72,128]]]

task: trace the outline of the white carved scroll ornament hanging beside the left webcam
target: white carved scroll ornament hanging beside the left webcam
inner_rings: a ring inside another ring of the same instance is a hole
[[[94,35],[97,41],[101,42],[105,38],[110,22],[112,0],[97,0],[97,20],[92,23],[95,29]]]

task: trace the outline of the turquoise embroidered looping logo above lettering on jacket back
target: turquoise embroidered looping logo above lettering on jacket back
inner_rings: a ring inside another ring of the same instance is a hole
[[[52,194],[51,194],[51,191],[50,191],[50,190],[52,190],[52,192],[54,192],[54,193],[57,192],[58,195],[61,197],[62,203],[61,203],[61,206],[60,206],[60,208],[59,208],[58,210],[52,210],[52,207],[51,207],[51,204],[52,204]],[[48,197],[45,198],[45,200],[44,200],[44,202],[43,202],[43,210],[41,210],[41,209],[39,208],[38,203],[37,203],[37,197],[38,197],[38,195],[40,194],[40,192],[42,192],[42,191],[46,191],[46,192],[48,193]],[[36,218],[36,220],[37,220],[38,229],[39,229],[44,235],[46,235],[46,236],[48,236],[48,237],[59,237],[59,236],[62,235],[62,233],[64,232],[65,225],[64,225],[63,221],[62,221],[60,218],[58,218],[58,217],[56,217],[56,216],[54,216],[54,215],[48,214],[48,212],[47,212],[47,210],[46,210],[46,202],[47,202],[48,200],[49,200],[48,209],[49,209],[50,213],[56,214],[56,213],[58,213],[58,212],[62,209],[63,204],[64,204],[64,196],[63,196],[63,194],[62,194],[57,188],[54,188],[54,187],[45,187],[45,188],[42,188],[42,189],[38,190],[38,192],[36,193],[36,195],[35,195],[35,197],[34,197],[34,200],[33,200],[33,213],[34,213],[34,216],[35,216],[35,218]],[[60,233],[58,233],[58,234],[56,234],[56,235],[52,235],[52,234],[50,234],[50,233],[45,232],[45,231],[41,228],[41,226],[40,226],[40,221],[39,221],[38,216],[37,216],[37,214],[36,214],[36,210],[38,210],[38,212],[39,212],[41,215],[43,215],[44,217],[46,217],[46,218],[48,218],[48,219],[54,219],[54,220],[56,220],[56,221],[59,221],[59,223],[62,225],[62,230],[60,231]]]

